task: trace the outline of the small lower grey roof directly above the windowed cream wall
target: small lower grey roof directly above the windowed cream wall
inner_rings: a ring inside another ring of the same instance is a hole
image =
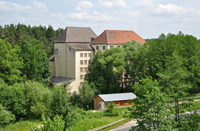
[[[76,51],[92,51],[92,48],[89,44],[76,43],[69,44],[69,46]]]

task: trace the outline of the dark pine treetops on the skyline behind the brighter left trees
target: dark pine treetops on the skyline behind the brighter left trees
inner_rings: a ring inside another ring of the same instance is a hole
[[[30,26],[24,24],[0,25],[0,39],[6,40],[11,45],[17,45],[20,42],[27,42],[31,39],[37,39],[43,43],[43,49],[47,56],[53,54],[53,41],[59,36],[63,29],[53,29],[52,26]]]

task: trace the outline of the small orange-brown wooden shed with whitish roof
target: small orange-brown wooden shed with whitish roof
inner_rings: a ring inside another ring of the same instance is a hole
[[[113,102],[117,107],[134,105],[130,100],[137,96],[131,93],[116,93],[116,94],[100,94],[94,97],[94,109],[104,110],[110,102]]]

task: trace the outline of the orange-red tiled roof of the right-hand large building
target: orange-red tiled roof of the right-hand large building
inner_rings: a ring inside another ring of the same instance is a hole
[[[141,43],[146,42],[133,31],[105,30],[91,44],[122,44],[132,40]]]

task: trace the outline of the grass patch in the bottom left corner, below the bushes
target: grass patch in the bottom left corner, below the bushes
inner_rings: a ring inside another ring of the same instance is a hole
[[[27,131],[31,126],[42,124],[39,120],[24,120],[11,123],[7,126],[0,126],[0,131]]]

